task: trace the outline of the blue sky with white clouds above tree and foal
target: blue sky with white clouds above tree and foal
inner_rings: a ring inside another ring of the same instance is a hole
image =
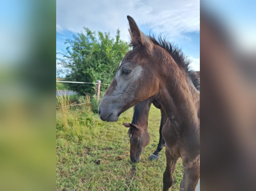
[[[66,39],[88,27],[91,31],[110,32],[114,37],[129,41],[130,15],[146,35],[166,36],[178,44],[191,60],[191,68],[200,70],[200,1],[199,0],[56,0],[56,52],[66,49]],[[56,55],[56,58],[61,58]],[[56,61],[56,67],[60,67]]]

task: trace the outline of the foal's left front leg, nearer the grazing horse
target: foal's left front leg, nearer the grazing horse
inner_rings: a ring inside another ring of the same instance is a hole
[[[173,172],[175,170],[176,164],[179,159],[179,157],[173,156],[171,154],[171,151],[167,145],[165,147],[165,155],[166,155],[166,168],[163,173],[163,191],[167,191],[171,187],[173,182]]]

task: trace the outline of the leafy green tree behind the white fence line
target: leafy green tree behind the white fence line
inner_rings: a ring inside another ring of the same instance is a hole
[[[63,67],[68,69],[66,80],[76,82],[96,82],[101,80],[104,84],[110,84],[116,70],[129,51],[127,42],[120,40],[120,31],[117,30],[116,38],[111,38],[110,33],[91,32],[88,28],[83,32],[73,35],[73,39],[66,40],[69,44],[63,59],[59,59]],[[93,84],[68,83],[70,90],[80,95],[94,94]],[[101,91],[106,91],[108,86],[102,85]]]

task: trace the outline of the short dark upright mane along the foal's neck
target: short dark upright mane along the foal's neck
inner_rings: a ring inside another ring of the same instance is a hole
[[[190,70],[190,60],[187,59],[181,49],[179,49],[177,45],[167,42],[165,38],[162,39],[160,35],[158,36],[158,41],[155,39],[154,35],[149,35],[148,37],[155,45],[165,49],[171,55],[177,65],[186,72],[196,89],[200,91],[200,78],[195,71]]]

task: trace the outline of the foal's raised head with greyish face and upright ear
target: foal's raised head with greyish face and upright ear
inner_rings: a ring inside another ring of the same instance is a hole
[[[154,44],[139,30],[133,18],[127,18],[133,49],[124,56],[101,99],[99,115],[104,121],[117,121],[122,112],[155,95],[160,84],[152,59]]]

